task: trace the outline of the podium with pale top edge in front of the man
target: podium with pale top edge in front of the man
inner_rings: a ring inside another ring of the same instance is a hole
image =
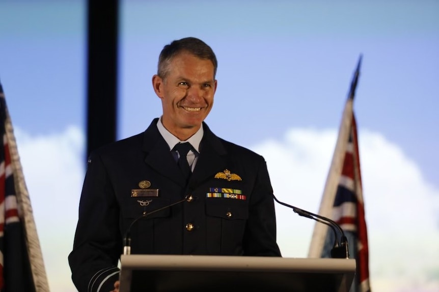
[[[348,292],[355,260],[121,255],[120,292]]]

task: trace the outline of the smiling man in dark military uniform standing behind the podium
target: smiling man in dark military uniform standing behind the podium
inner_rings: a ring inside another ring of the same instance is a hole
[[[118,289],[128,229],[131,253],[281,256],[264,158],[204,123],[216,68],[215,54],[199,39],[164,46],[152,78],[161,117],[144,133],[91,153],[69,255],[79,291]],[[183,142],[190,143],[187,156],[175,150]]]

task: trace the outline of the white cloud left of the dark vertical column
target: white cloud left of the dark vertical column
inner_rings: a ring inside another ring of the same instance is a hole
[[[84,135],[30,136],[15,128],[18,153],[34,212],[51,291],[76,291],[67,256],[73,245],[86,159]]]

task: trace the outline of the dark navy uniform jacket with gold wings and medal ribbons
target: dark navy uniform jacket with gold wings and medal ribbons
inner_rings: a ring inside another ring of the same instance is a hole
[[[79,291],[112,290],[131,222],[188,194],[195,200],[132,225],[132,254],[281,256],[264,158],[216,137],[203,122],[200,154],[186,184],[156,124],[90,155],[69,255]],[[148,196],[158,196],[132,197],[142,181]]]

